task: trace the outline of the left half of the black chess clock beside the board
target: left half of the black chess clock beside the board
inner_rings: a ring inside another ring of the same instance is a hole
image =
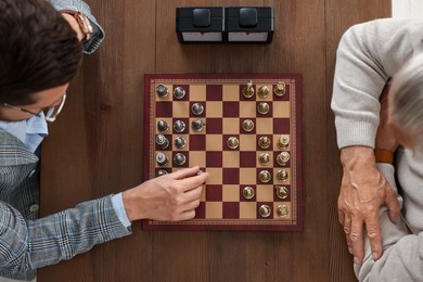
[[[225,8],[177,8],[176,31],[180,42],[221,42]]]

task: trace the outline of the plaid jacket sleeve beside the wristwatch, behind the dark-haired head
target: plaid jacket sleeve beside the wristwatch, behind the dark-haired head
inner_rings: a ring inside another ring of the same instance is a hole
[[[92,24],[93,33],[90,40],[84,42],[84,52],[91,54],[94,52],[100,43],[104,40],[104,30],[97,22],[95,17],[91,13],[91,9],[87,3],[81,0],[50,0],[50,3],[57,10],[72,10],[79,11],[88,16]]]

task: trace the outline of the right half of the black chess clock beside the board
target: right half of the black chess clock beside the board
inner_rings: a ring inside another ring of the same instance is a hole
[[[272,7],[226,8],[228,42],[270,43],[274,30]]]

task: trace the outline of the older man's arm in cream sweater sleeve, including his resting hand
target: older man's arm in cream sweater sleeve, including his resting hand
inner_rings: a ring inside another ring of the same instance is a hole
[[[395,193],[377,170],[373,149],[380,94],[402,63],[421,51],[418,27],[423,27],[422,21],[379,20],[351,27],[339,42],[332,99],[344,169],[338,218],[356,264],[363,258],[366,231],[373,258],[382,254],[380,207],[386,205],[393,220],[399,215]]]

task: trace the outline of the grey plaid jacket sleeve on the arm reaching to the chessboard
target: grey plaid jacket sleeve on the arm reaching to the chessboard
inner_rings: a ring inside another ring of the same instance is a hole
[[[111,196],[37,220],[25,220],[14,207],[0,203],[0,268],[26,272],[127,234],[130,230],[117,218]]]

